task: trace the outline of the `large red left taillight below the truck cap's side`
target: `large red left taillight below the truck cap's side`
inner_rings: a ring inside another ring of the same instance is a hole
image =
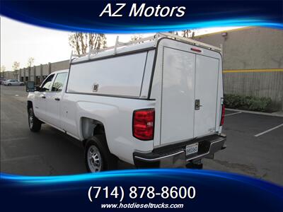
[[[133,115],[133,135],[140,140],[154,139],[154,109],[135,110]]]

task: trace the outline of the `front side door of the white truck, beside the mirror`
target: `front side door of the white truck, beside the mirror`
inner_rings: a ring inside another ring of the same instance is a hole
[[[42,121],[45,121],[45,112],[46,112],[46,96],[49,93],[54,74],[48,76],[45,81],[41,84],[39,91],[35,91],[35,101],[33,102],[33,110],[35,116]]]

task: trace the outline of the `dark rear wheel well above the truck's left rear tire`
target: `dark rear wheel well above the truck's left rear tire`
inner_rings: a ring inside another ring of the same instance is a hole
[[[105,128],[102,122],[96,119],[81,118],[81,133],[83,135],[83,146],[90,136],[105,134]]]

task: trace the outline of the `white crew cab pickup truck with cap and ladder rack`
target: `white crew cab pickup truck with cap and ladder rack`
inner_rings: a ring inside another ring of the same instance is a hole
[[[201,164],[225,148],[221,49],[157,34],[70,60],[39,88],[27,83],[28,123],[79,139],[89,172]]]

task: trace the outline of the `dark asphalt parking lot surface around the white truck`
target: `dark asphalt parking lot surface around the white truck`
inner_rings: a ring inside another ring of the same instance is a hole
[[[28,129],[25,88],[1,86],[1,172],[70,175],[86,172],[79,141],[46,124]],[[204,169],[237,172],[283,185],[283,117],[226,111],[224,151]],[[132,168],[125,163],[120,169]]]

